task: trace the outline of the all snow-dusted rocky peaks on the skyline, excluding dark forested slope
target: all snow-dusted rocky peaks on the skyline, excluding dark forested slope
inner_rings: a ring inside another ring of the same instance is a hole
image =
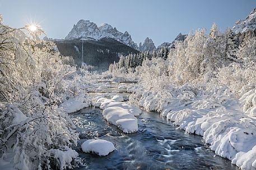
[[[243,33],[249,30],[255,30],[256,28],[256,8],[249,14],[245,20],[239,20],[232,27],[234,33]],[[104,25],[97,26],[94,22],[89,20],[80,20],[76,25],[73,26],[72,30],[65,37],[65,40],[76,40],[80,38],[81,40],[100,40],[101,38],[109,37],[124,43],[127,46],[134,48],[141,52],[161,50],[162,47],[173,48],[176,41],[184,41],[187,35],[179,33],[179,35],[172,42],[164,42],[156,48],[155,44],[150,38],[146,38],[143,43],[135,43],[132,40],[131,35],[127,31],[124,33],[113,28],[108,23]]]

